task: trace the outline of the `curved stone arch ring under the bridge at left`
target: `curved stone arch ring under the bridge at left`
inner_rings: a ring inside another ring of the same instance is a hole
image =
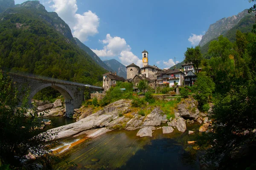
[[[56,83],[47,83],[44,85],[41,85],[39,87],[37,87],[34,91],[32,91],[32,93],[29,95],[29,105],[31,105],[31,100],[32,98],[35,96],[35,94],[37,94],[39,91],[41,91],[44,88],[47,87],[52,87],[54,89],[56,89],[58,92],[60,92],[60,94],[62,96],[64,96],[65,102],[72,102],[72,100],[74,99],[73,94],[71,93],[71,91],[69,91],[64,85],[60,85],[60,84],[56,84]]]

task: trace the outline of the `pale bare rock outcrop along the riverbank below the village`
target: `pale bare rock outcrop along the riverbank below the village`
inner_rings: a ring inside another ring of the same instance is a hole
[[[141,116],[138,111],[133,111],[131,100],[121,99],[105,106],[102,110],[88,116],[79,118],[75,123],[51,129],[57,130],[58,135],[54,139],[63,139],[70,136],[87,134],[87,137],[96,137],[115,129],[136,130],[140,129],[137,136],[152,136],[153,130],[162,123],[167,126],[157,127],[163,129],[163,133],[172,133],[174,128],[180,132],[186,131],[186,123],[199,122],[204,124],[199,131],[205,132],[211,125],[207,114],[200,113],[195,99],[185,99],[177,105],[175,119],[167,119],[167,115],[159,107],[153,108],[151,113]],[[152,108],[151,108],[152,109]],[[191,133],[191,132],[189,132]]]

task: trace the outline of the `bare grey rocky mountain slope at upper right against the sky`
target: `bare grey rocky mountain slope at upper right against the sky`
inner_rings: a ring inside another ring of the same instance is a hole
[[[199,42],[199,45],[202,47],[210,40],[225,34],[231,28],[236,26],[236,24],[239,23],[239,21],[246,15],[248,15],[247,9],[245,9],[237,15],[222,18],[221,20],[218,20],[216,23],[211,24],[209,26],[208,31],[202,37],[202,40]]]

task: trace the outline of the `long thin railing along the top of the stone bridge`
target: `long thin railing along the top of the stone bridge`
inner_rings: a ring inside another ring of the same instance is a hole
[[[23,72],[23,71],[18,71],[18,70],[14,70],[14,69],[10,69],[10,68],[5,68],[5,67],[0,67],[0,70],[4,71],[6,73],[16,74],[18,76],[28,77],[28,78],[31,78],[31,79],[39,79],[39,80],[44,80],[44,81],[59,83],[59,84],[78,85],[78,86],[85,86],[85,87],[89,87],[89,88],[101,89],[101,87],[98,87],[98,86],[93,86],[93,85],[88,85],[88,84],[86,85],[86,84],[78,83],[78,82],[71,82],[71,81],[56,79],[56,78],[52,78],[52,77],[35,75],[35,74],[31,74],[31,73],[27,73],[27,72]]]

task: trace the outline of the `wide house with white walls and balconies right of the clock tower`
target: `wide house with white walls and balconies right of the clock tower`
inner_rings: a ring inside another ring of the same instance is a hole
[[[174,68],[160,71],[156,76],[159,84],[169,83],[170,86],[174,86],[175,83],[177,83],[178,86],[182,86],[183,76],[185,76],[185,74]]]

